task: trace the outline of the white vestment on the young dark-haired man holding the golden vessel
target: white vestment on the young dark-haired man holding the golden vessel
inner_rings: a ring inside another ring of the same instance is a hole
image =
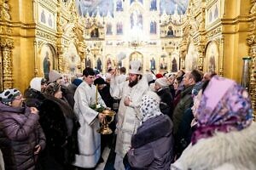
[[[101,156],[101,135],[96,132],[100,127],[97,118],[98,112],[90,109],[96,104],[96,86],[89,86],[82,82],[74,94],[74,112],[79,118],[78,132],[79,155],[76,155],[74,166],[91,168],[96,167]],[[106,107],[101,95],[97,92],[98,104]]]

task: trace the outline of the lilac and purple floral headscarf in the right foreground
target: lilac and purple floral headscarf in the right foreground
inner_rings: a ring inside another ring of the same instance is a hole
[[[197,115],[199,126],[193,133],[192,144],[212,137],[216,131],[240,131],[253,121],[247,91],[236,82],[218,76],[212,77],[202,94]]]

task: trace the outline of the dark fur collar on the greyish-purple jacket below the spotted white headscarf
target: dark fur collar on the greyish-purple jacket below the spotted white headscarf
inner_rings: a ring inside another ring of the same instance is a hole
[[[131,147],[139,148],[172,133],[172,121],[166,115],[155,116],[143,122],[131,139]]]

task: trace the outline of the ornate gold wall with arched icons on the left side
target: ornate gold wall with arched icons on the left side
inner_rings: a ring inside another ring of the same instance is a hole
[[[83,23],[78,22],[74,1],[0,0],[0,90],[23,92],[32,77],[44,77],[45,55],[50,70],[68,72],[70,58],[82,69],[81,35]]]

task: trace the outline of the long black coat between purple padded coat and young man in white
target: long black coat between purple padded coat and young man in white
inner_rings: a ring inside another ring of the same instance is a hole
[[[39,122],[46,136],[46,150],[40,161],[44,169],[62,169],[72,164],[78,149],[78,124],[67,102],[44,94]]]

